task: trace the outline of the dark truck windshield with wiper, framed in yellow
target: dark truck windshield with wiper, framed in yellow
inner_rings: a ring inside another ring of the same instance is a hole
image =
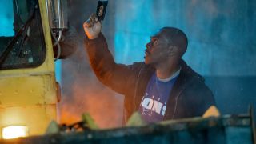
[[[0,69],[36,67],[46,58],[37,0],[1,0]]]

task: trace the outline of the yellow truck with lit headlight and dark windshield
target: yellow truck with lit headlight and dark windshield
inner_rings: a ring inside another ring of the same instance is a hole
[[[60,58],[66,1],[1,2],[11,2],[14,35],[0,37],[0,139],[44,134],[57,119],[54,45]]]

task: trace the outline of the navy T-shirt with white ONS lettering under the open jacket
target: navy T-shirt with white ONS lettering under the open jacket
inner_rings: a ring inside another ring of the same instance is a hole
[[[180,70],[167,82],[159,80],[155,73],[150,78],[138,110],[146,122],[160,122],[163,120],[166,112],[166,103],[179,72]]]

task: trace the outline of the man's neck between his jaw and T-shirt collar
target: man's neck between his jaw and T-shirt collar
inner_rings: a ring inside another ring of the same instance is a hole
[[[180,69],[178,61],[166,62],[156,67],[157,77],[160,79],[169,78]]]

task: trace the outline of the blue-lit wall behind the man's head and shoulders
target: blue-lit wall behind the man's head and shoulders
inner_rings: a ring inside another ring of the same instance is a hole
[[[256,108],[255,10],[253,0],[118,0],[116,61],[142,61],[150,35],[178,27],[189,38],[183,58],[206,77],[222,113],[246,113]]]

